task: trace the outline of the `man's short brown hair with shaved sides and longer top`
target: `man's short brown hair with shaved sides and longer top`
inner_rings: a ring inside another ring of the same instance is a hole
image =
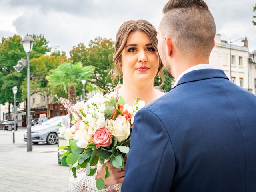
[[[169,0],[163,12],[159,31],[171,38],[182,54],[210,55],[216,27],[203,0]]]

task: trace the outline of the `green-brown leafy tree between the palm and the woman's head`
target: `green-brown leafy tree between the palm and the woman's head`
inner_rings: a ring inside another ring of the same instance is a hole
[[[114,51],[114,41],[97,37],[90,40],[88,48],[83,43],[74,46],[70,51],[70,56],[74,62],[81,61],[83,66],[95,66],[92,78],[97,86],[107,92],[111,85],[114,86],[111,80],[114,68]]]

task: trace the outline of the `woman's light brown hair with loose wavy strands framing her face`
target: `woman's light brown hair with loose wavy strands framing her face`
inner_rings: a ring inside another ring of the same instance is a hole
[[[122,26],[119,28],[117,34],[116,34],[116,43],[115,43],[115,53],[114,53],[114,74],[112,75],[112,81],[114,82],[114,80],[116,79],[116,77],[118,77],[119,75],[122,76],[122,51],[124,49],[124,46],[126,44],[127,38],[130,34],[130,32],[132,31],[143,31],[145,32],[151,42],[152,42],[152,46],[154,47],[154,49],[157,51],[157,31],[154,28],[154,26],[152,24],[150,24],[150,22],[146,21],[146,20],[137,20],[137,21],[126,21],[124,22],[124,24],[122,24]],[[158,54],[158,58],[159,58],[159,67],[158,67],[158,71],[157,74],[154,78],[154,82],[156,81],[156,78],[159,74],[159,76],[162,78],[162,84],[160,86],[162,86],[164,84],[164,72],[163,72],[163,64],[162,61],[160,59],[160,56]]]

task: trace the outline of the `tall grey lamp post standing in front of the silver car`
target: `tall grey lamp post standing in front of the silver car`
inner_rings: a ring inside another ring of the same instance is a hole
[[[29,54],[32,51],[34,40],[30,36],[24,36],[20,44],[23,45],[25,52],[27,53],[27,60],[18,61],[18,64],[14,66],[16,71],[20,72],[23,67],[27,67],[27,151],[32,151],[32,137],[31,137],[31,121],[30,121],[30,67],[29,67]]]

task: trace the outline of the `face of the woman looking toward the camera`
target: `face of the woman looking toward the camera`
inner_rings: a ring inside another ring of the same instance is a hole
[[[158,59],[150,37],[142,31],[131,32],[122,51],[124,81],[153,83],[158,71]]]

